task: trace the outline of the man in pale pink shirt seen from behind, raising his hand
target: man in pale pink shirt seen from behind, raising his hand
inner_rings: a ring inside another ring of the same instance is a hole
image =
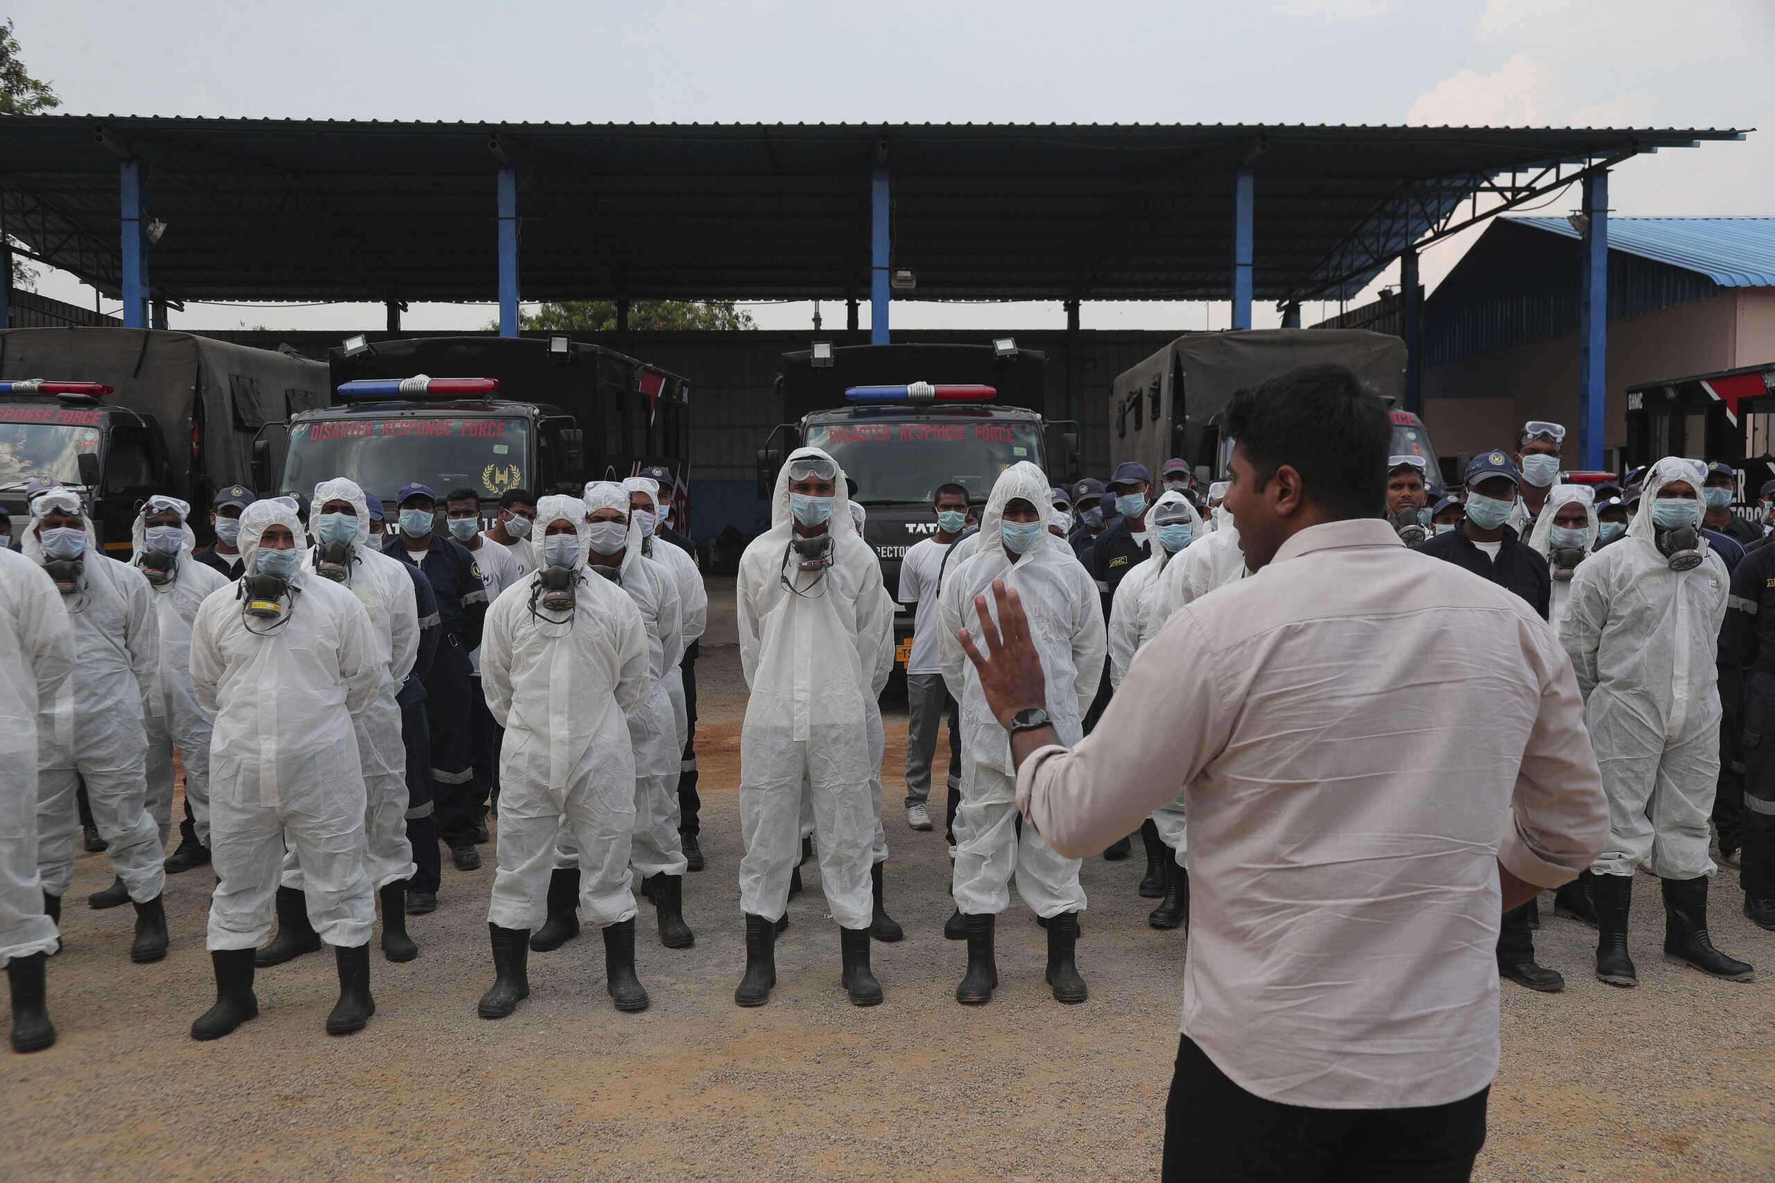
[[[1608,841],[1578,681],[1519,596],[1400,544],[1386,406],[1347,369],[1241,392],[1225,429],[1255,575],[1180,608],[1099,731],[1056,743],[1015,592],[990,589],[998,624],[980,614],[964,647],[1012,733],[1019,805],[1061,855],[1186,786],[1164,1178],[1468,1179],[1498,1069],[1500,912]]]

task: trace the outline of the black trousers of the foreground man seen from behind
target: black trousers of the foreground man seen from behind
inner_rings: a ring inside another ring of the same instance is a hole
[[[1464,1183],[1491,1087],[1425,1109],[1305,1109],[1246,1093],[1189,1036],[1164,1103],[1166,1183]]]

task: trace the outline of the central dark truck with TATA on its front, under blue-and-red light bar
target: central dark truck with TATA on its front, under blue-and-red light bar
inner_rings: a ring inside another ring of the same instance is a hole
[[[992,344],[831,346],[785,353],[776,380],[788,422],[758,450],[758,497],[797,447],[824,449],[856,481],[868,514],[864,541],[895,598],[895,660],[912,646],[912,614],[900,603],[900,560],[937,532],[930,511],[939,484],[955,482],[983,504],[999,474],[1019,461],[1053,484],[1079,475],[1074,422],[1042,417],[1047,358],[1014,339]],[[1054,436],[1054,438],[1051,438]]]

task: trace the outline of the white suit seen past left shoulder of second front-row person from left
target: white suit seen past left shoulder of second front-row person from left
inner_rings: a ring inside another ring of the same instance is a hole
[[[178,497],[149,497],[142,502],[130,537],[135,544],[135,566],[140,569],[147,550],[147,523],[165,511],[179,514],[185,546],[174,560],[170,584],[147,582],[154,599],[154,624],[160,631],[160,670],[147,692],[147,814],[160,830],[165,846],[172,834],[172,748],[185,764],[185,800],[192,803],[192,825],[197,841],[209,846],[209,727],[215,720],[192,695],[192,621],[197,607],[218,587],[227,587],[227,576],[211,566],[192,559],[197,536],[192,534],[192,507]],[[146,578],[146,576],[144,576]]]

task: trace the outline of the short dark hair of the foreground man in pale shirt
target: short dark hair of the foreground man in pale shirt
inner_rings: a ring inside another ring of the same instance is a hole
[[[1257,470],[1258,491],[1287,465],[1331,518],[1384,513],[1393,427],[1381,396],[1347,367],[1303,365],[1237,392],[1225,431]]]

